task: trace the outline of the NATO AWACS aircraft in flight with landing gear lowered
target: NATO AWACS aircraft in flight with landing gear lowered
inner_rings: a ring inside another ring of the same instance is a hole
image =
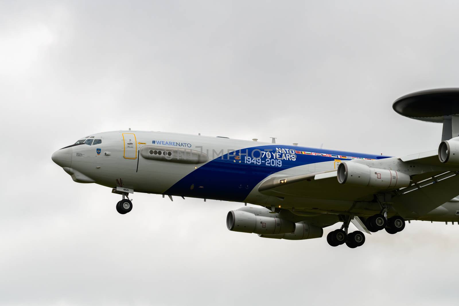
[[[459,89],[433,89],[393,103],[403,116],[443,123],[438,150],[409,156],[128,130],[82,137],[52,160],[75,182],[121,195],[120,214],[134,191],[250,203],[229,211],[229,230],[301,240],[339,223],[327,242],[355,248],[363,232],[396,234],[405,221],[459,221],[458,101]],[[349,233],[351,222],[358,230]]]

